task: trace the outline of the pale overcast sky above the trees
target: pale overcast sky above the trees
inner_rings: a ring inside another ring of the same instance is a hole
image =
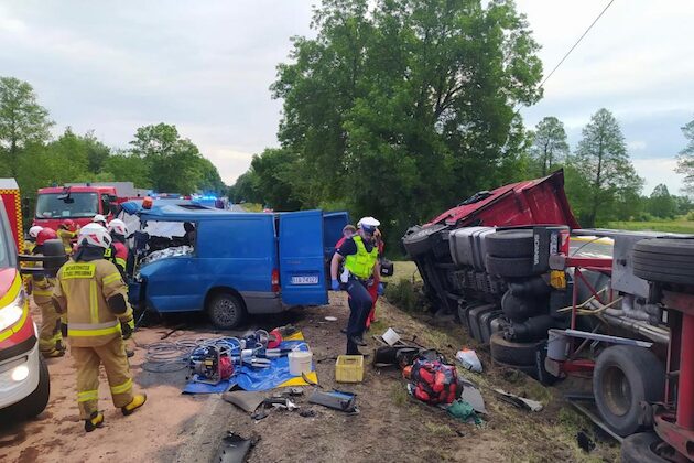
[[[549,73],[607,0],[521,0]],[[314,1],[0,0],[0,75],[31,83],[56,121],[123,148],[143,125],[191,138],[227,183],[276,146],[268,87]],[[680,127],[694,119],[694,2],[617,0],[522,115],[566,125],[572,148],[600,107],[621,123],[646,193],[681,186]]]

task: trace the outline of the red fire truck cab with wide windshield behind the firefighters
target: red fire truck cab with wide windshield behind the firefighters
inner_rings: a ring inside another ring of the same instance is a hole
[[[118,197],[113,186],[52,186],[39,190],[34,225],[57,230],[69,218],[85,226],[97,215],[113,217]]]

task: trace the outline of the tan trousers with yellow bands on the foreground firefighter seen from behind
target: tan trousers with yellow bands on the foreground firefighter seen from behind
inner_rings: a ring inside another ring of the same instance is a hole
[[[83,420],[98,411],[100,364],[106,370],[113,406],[120,408],[132,401],[132,375],[122,338],[94,347],[72,346],[71,354],[77,368],[77,403]]]

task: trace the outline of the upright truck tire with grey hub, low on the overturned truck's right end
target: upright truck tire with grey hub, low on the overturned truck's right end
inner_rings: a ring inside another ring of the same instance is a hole
[[[665,367],[643,347],[611,346],[595,363],[595,403],[606,424],[622,437],[641,428],[641,402],[662,400],[664,385]]]

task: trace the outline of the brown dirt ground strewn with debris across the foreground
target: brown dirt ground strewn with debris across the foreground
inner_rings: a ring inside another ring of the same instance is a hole
[[[143,369],[145,346],[159,342],[171,326],[142,329],[135,333],[139,347],[131,359],[138,388],[147,390],[148,403],[131,417],[122,417],[110,403],[106,378],[101,378],[100,407],[106,426],[89,434],[78,420],[74,368],[69,355],[48,362],[51,400],[36,419],[0,428],[2,462],[161,461],[209,462],[227,431],[246,438],[260,438],[250,462],[601,462],[616,461],[618,446],[596,435],[592,424],[561,399],[559,389],[545,388],[518,374],[491,366],[489,356],[478,349],[485,372],[474,374],[459,368],[479,385],[489,416],[476,427],[448,417],[445,411],[410,398],[406,384],[397,370],[365,368],[358,385],[334,381],[335,358],[344,353],[345,338],[339,329],[348,310],[344,294],[332,294],[330,305],[294,310],[279,317],[251,320],[245,329],[272,327],[291,322],[302,329],[314,352],[318,381],[357,394],[360,413],[347,416],[297,399],[302,409],[315,411],[302,418],[297,411],[271,411],[254,422],[250,416],[221,400],[219,395],[181,394],[185,370],[150,373]],[[326,315],[337,322],[325,321]],[[379,322],[372,333],[392,326],[403,338],[438,348],[449,358],[463,345],[471,345],[459,325],[432,326],[422,316],[412,316],[388,302],[379,302]],[[39,321],[39,319],[36,319]],[[180,322],[180,320],[177,321]],[[177,323],[176,322],[176,323]],[[167,341],[210,336],[204,322],[177,331]],[[226,333],[225,333],[226,334]],[[378,343],[366,336],[372,352]],[[371,357],[366,359],[369,364]],[[545,405],[530,413],[500,401],[490,388],[533,398]],[[310,388],[304,388],[306,392]],[[270,391],[268,392],[271,394]],[[590,453],[576,444],[576,432],[585,430],[596,441]]]

